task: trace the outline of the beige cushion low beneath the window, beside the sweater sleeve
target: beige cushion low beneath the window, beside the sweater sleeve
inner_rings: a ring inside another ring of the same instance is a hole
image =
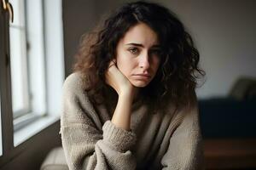
[[[40,170],[68,170],[62,147],[50,150]]]

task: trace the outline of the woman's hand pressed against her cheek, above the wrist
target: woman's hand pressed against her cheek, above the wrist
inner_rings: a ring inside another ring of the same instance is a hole
[[[108,71],[106,72],[106,82],[111,86],[119,96],[121,94],[130,94],[134,92],[134,86],[123,75],[116,66],[115,60],[111,61],[108,65]]]

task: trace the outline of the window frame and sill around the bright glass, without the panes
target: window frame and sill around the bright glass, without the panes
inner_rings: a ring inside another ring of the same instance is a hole
[[[26,1],[35,2],[35,0]],[[40,108],[33,108],[37,118],[27,115],[28,117],[23,117],[23,120],[20,118],[19,123],[13,121],[12,111],[9,15],[7,12],[2,13],[2,2],[0,2],[0,113],[2,121],[2,129],[0,128],[2,130],[2,144],[0,142],[0,147],[3,146],[0,166],[13,159],[14,156],[18,156],[20,148],[25,147],[26,144],[24,143],[29,142],[27,139],[32,139],[35,134],[40,133],[44,128],[60,119],[61,89],[64,82],[62,2],[61,0],[37,1],[42,2],[42,10],[44,11],[44,50],[42,53],[44,53],[45,78],[41,80],[41,86],[44,86],[45,89],[42,92],[45,104]],[[41,104],[41,101],[37,102],[38,105]],[[20,127],[15,128],[14,124],[17,123]]]

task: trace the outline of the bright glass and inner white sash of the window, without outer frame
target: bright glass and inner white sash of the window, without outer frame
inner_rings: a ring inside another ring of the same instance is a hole
[[[44,13],[41,0],[10,0],[9,26],[12,109],[18,130],[46,114]]]

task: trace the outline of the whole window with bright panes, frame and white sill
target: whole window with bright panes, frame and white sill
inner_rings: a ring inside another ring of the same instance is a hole
[[[3,2],[7,0],[0,2],[0,162],[59,119],[64,81],[61,0],[9,0],[13,23]]]

